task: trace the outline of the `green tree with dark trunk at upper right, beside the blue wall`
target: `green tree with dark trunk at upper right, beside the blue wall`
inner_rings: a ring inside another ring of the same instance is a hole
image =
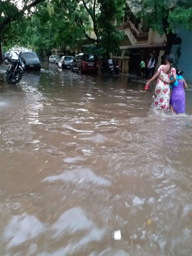
[[[183,25],[192,29],[191,0],[130,0],[129,6],[138,9],[137,15],[155,31],[167,37],[165,54],[170,54],[172,44],[176,40],[174,27]]]

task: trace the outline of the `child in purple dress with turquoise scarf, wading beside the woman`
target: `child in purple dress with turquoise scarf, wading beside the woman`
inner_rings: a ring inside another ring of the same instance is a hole
[[[174,111],[178,113],[185,113],[185,91],[184,89],[187,89],[187,84],[185,82],[185,79],[182,77],[183,75],[183,69],[177,68],[176,69],[176,77],[177,80],[170,85],[170,88],[172,87],[172,94],[170,99],[170,108],[171,112]]]

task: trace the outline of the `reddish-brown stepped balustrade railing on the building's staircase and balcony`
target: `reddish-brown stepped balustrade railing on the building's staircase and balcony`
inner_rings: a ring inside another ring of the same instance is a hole
[[[149,33],[139,33],[136,27],[131,21],[122,23],[120,26],[116,27],[117,30],[130,30],[132,35],[135,37],[137,43],[147,43],[149,38]]]

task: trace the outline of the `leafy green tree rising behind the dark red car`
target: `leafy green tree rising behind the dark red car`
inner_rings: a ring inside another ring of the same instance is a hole
[[[122,32],[116,30],[111,21],[120,22],[124,15],[124,0],[56,0],[55,4],[75,21],[85,38],[97,48],[105,49],[107,55],[118,48]],[[90,36],[92,31],[95,38]]]

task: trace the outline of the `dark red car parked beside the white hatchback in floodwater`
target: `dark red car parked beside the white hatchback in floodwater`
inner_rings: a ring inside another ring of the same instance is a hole
[[[75,59],[71,63],[71,71],[79,72],[79,74],[82,72],[97,74],[98,68],[98,57],[95,54],[80,53],[76,55]]]

